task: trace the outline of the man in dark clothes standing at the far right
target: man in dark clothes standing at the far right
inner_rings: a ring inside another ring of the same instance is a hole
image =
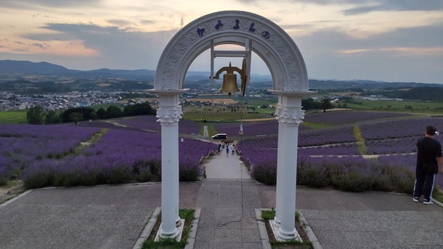
[[[432,204],[432,191],[434,188],[435,174],[443,172],[442,146],[433,139],[438,134],[432,126],[426,127],[426,135],[417,142],[417,167],[415,168],[414,201],[418,202],[424,196],[424,204]]]

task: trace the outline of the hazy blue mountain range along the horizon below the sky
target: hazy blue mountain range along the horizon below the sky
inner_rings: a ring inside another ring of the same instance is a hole
[[[120,69],[97,69],[91,71],[80,71],[65,68],[64,66],[51,64],[48,62],[29,62],[16,60],[0,60],[0,83],[11,80],[18,80],[26,75],[42,75],[46,80],[54,80],[57,77],[72,77],[74,79],[109,79],[119,80],[141,80],[152,82],[155,71],[148,69],[138,70],[120,70]],[[188,71],[186,73],[186,83],[204,84],[208,82],[209,72]],[[35,78],[36,80],[39,77]],[[271,75],[251,75],[251,85],[263,85],[268,87],[272,85]],[[316,89],[380,89],[382,87],[415,87],[415,86],[443,86],[442,84],[426,84],[417,82],[378,82],[372,80],[309,80],[309,87]]]

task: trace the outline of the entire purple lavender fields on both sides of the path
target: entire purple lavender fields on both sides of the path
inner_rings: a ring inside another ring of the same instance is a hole
[[[298,184],[346,191],[412,191],[417,139],[427,125],[443,129],[443,118],[394,114],[331,111],[307,115],[309,122],[335,127],[299,127]],[[138,116],[64,126],[1,124],[0,185],[14,178],[23,179],[28,188],[160,181],[161,124],[157,119]],[[243,122],[242,138],[239,123],[181,120],[179,133],[185,137],[179,142],[181,181],[195,181],[201,174],[201,158],[216,149],[212,142],[193,139],[202,125],[214,125],[234,137],[253,177],[275,183],[276,120]],[[443,136],[436,139],[443,142]],[[365,155],[378,158],[365,159]],[[437,177],[436,183],[442,186],[443,178]]]

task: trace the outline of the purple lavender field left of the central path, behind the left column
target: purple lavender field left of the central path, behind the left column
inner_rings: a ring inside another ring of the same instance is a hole
[[[0,176],[28,188],[159,181],[161,135],[82,125],[3,125]],[[93,135],[100,135],[96,141]],[[187,138],[179,143],[181,181],[195,181],[201,158],[215,146]]]

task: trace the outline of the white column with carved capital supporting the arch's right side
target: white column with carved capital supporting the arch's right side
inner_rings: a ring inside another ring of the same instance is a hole
[[[295,228],[298,126],[305,116],[302,94],[278,92],[276,118],[278,130],[277,188],[274,225],[282,240],[300,239]]]

